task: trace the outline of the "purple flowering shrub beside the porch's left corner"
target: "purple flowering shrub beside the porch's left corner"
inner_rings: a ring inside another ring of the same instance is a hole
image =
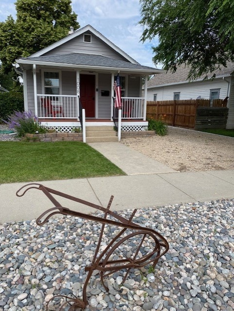
[[[14,111],[10,116],[7,116],[8,121],[4,121],[9,129],[18,133],[18,137],[23,137],[25,134],[45,133],[46,128],[38,123],[38,118],[32,112]]]

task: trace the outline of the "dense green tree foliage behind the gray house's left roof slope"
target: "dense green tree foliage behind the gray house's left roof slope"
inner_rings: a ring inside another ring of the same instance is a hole
[[[27,57],[79,28],[71,0],[17,0],[17,18],[0,23],[0,60],[4,72],[18,57]]]

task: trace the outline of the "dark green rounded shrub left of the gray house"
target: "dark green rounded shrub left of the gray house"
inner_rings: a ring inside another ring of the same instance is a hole
[[[16,91],[0,93],[0,121],[6,120],[14,111],[23,111],[23,94]]]

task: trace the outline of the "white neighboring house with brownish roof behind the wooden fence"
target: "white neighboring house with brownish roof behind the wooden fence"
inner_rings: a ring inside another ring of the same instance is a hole
[[[170,71],[155,75],[148,81],[148,101],[171,101],[188,99],[210,99],[211,105],[214,99],[225,99],[227,96],[229,108],[227,129],[234,128],[234,63],[228,62],[227,67],[221,66],[208,76],[213,80],[203,80],[205,75],[199,79],[189,82],[187,80],[189,67],[184,65],[178,67],[177,71]]]

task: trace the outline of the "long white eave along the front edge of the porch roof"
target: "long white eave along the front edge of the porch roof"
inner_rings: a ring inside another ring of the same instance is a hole
[[[140,72],[146,75],[151,75],[155,73],[161,73],[161,69],[133,69],[133,68],[121,68],[121,67],[102,67],[102,66],[90,66],[90,65],[75,65],[66,63],[53,63],[53,62],[42,62],[42,61],[30,61],[27,59],[17,59],[18,64],[26,65],[41,65],[41,66],[53,66],[53,67],[66,67],[66,68],[80,68],[80,69],[91,69],[91,70],[108,70],[108,71],[125,71],[125,72]],[[140,65],[139,65],[140,66]]]

